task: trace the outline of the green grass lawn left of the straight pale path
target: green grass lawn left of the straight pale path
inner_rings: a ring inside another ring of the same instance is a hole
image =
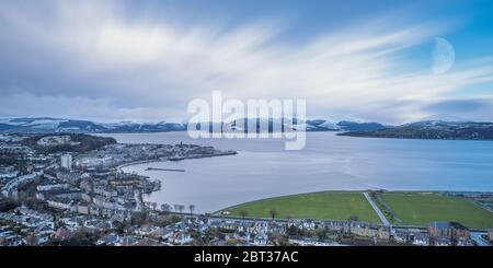
[[[283,196],[252,201],[222,211],[240,215],[241,210],[248,217],[271,218],[270,211],[277,210],[277,218],[308,218],[348,220],[357,217],[360,221],[381,223],[371,206],[360,191],[321,191]]]

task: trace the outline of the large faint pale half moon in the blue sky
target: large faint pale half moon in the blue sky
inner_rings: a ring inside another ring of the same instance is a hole
[[[456,61],[454,46],[445,38],[436,37],[433,42],[432,70],[435,74],[446,73]]]

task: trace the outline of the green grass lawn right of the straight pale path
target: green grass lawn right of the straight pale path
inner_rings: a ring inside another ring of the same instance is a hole
[[[492,212],[461,198],[429,193],[385,193],[382,198],[402,220],[402,224],[427,225],[433,221],[457,221],[468,228],[493,226]]]

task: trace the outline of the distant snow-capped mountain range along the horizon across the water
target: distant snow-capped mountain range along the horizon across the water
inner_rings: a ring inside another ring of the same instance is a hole
[[[372,138],[402,138],[402,139],[460,139],[460,140],[493,140],[493,123],[473,121],[445,121],[422,120],[400,126],[385,126],[379,123],[339,121],[325,119],[282,120],[282,119],[242,119],[243,124],[208,123],[208,131],[227,129],[228,131],[246,131],[243,128],[252,127],[260,131],[260,124],[268,126],[273,131],[274,123],[280,124],[282,129],[302,129],[307,131],[339,131],[340,136],[372,137]],[[89,120],[60,119],[50,117],[23,117],[0,118],[0,132],[21,133],[48,133],[48,132],[74,132],[74,133],[123,133],[123,132],[168,132],[184,131],[187,124],[179,123],[94,123]],[[252,129],[252,128],[250,128]]]

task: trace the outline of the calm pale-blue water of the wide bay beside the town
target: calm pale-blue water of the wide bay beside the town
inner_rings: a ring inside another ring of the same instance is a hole
[[[211,212],[240,202],[326,189],[493,190],[493,142],[339,137],[309,132],[302,151],[274,139],[190,139],[186,132],[108,135],[118,142],[196,143],[239,154],[128,166],[162,182],[149,200]],[[184,173],[145,171],[148,166]]]

